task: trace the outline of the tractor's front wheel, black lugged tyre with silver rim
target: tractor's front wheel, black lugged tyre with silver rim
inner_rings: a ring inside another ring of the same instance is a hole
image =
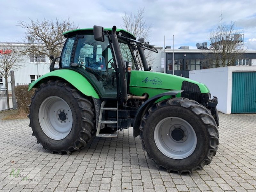
[[[192,173],[211,163],[218,127],[209,111],[194,100],[174,98],[149,108],[140,125],[142,147],[149,158],[167,169]]]

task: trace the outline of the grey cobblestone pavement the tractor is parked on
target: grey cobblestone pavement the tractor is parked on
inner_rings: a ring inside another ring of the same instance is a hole
[[[44,151],[28,119],[0,121],[0,191],[256,191],[256,114],[220,114],[220,145],[192,175],[156,168],[132,129],[68,155]]]

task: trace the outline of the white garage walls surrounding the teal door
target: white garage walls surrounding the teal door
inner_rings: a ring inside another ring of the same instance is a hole
[[[232,73],[256,71],[256,66],[231,66],[189,71],[189,78],[205,84],[212,96],[218,97],[217,109],[222,113],[231,113]]]

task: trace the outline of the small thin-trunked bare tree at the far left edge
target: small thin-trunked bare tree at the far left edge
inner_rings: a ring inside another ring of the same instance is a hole
[[[23,66],[20,63],[21,61],[22,56],[20,55],[18,46],[13,45],[12,43],[4,43],[0,45],[0,76],[4,76],[5,79],[8,108],[10,108],[8,76],[10,76],[11,70],[17,70]]]

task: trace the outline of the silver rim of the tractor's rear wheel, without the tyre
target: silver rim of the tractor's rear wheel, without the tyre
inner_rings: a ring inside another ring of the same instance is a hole
[[[57,96],[47,97],[40,105],[39,124],[48,137],[61,140],[68,136],[73,116],[68,103]]]

